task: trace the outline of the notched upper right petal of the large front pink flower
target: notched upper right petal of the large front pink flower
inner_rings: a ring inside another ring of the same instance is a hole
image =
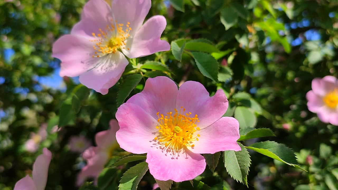
[[[187,81],[180,86],[177,94],[176,108],[183,106],[186,112],[197,114],[199,128],[207,127],[221,118],[228,108],[228,100],[220,89],[212,97],[202,84]]]

